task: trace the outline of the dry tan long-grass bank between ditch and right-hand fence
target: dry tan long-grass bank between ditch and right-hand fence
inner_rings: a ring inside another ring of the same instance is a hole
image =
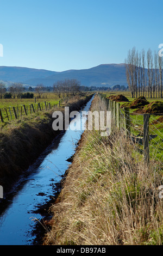
[[[99,110],[96,97],[92,110]],[[51,207],[45,245],[162,245],[162,170],[116,127],[85,131]]]

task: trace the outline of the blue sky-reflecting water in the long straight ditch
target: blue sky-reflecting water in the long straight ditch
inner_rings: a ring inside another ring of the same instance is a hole
[[[82,111],[89,111],[92,100],[93,97]],[[73,120],[76,125],[83,124],[86,117],[82,118],[80,112],[78,119]],[[70,126],[73,125],[73,120]],[[0,245],[32,245],[35,239],[32,234],[35,227],[33,218],[42,218],[40,214],[33,212],[54,194],[55,184],[61,181],[62,175],[70,165],[66,160],[74,154],[82,133],[83,130],[72,130],[70,127],[55,138],[39,159],[29,167],[13,191],[11,199],[1,199],[7,202],[0,216]]]

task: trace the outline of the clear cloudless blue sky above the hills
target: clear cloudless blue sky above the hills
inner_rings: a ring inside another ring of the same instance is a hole
[[[1,1],[0,66],[64,71],[123,63],[133,46],[158,51],[162,0]]]

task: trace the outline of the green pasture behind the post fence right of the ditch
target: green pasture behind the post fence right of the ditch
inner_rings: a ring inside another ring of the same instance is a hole
[[[106,95],[106,97],[112,96],[112,95],[121,95],[118,92],[113,93],[106,93],[102,94]],[[131,98],[130,93],[122,93],[123,96],[127,97],[129,102],[120,101],[120,112],[122,115],[124,115],[123,107],[124,106],[130,106],[132,102],[136,102],[136,98]],[[162,102],[163,99],[151,99],[146,98],[148,104],[152,102]],[[141,101],[140,101],[141,102]],[[136,103],[135,103],[136,104]],[[158,106],[159,109],[159,103],[155,103],[156,106]],[[163,105],[163,104],[162,104]],[[151,110],[151,113],[149,115],[149,135],[153,135],[154,138],[151,139],[149,142],[149,154],[152,159],[155,159],[155,161],[158,161],[162,165],[162,155],[163,155],[163,107],[160,105],[160,111],[158,113],[153,113],[156,111]],[[146,105],[148,106],[148,105]],[[146,106],[133,106],[129,108],[130,113],[130,132],[132,136],[136,137],[143,137],[143,109],[146,108]],[[154,106],[154,105],[153,105]],[[145,112],[144,112],[145,113]],[[148,112],[147,112],[148,113]],[[160,114],[159,114],[160,113]],[[143,146],[139,145],[140,151],[143,150]]]

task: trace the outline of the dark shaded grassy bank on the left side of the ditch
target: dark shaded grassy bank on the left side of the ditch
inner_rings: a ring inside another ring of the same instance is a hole
[[[74,97],[66,106],[70,107],[70,112],[79,110],[90,97]],[[58,135],[59,131],[52,129],[54,110],[64,113],[64,106],[33,113],[1,127],[0,185],[4,188],[4,194]]]

